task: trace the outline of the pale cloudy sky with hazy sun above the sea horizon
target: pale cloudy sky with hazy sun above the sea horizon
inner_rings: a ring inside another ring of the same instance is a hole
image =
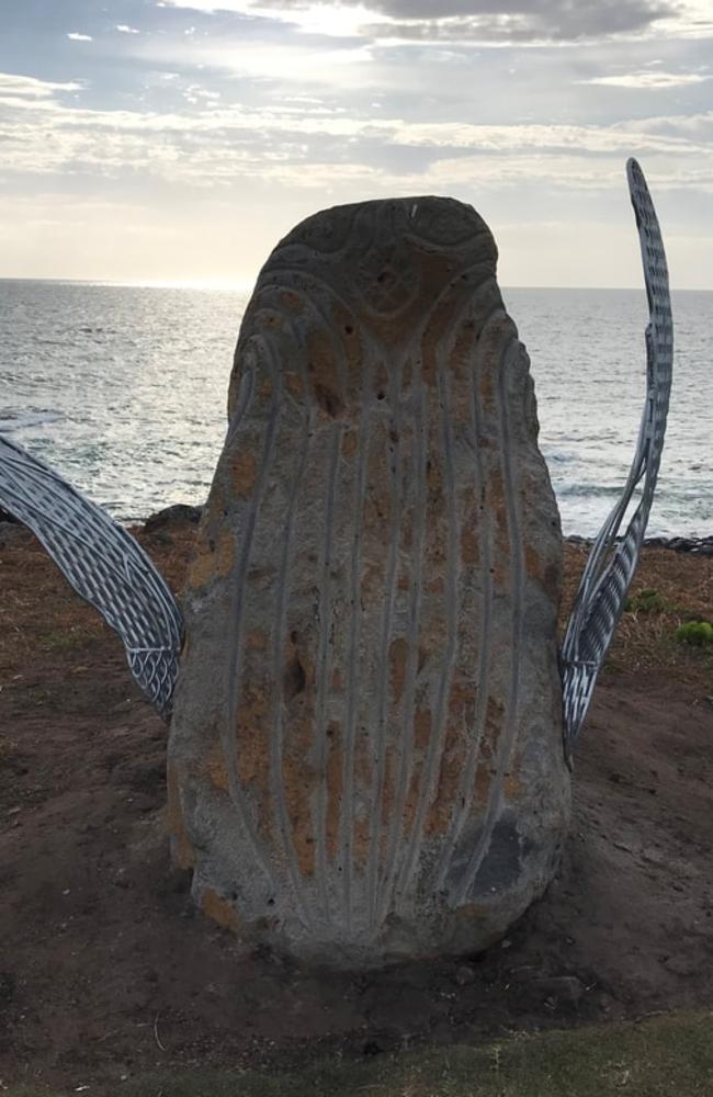
[[[713,0],[0,0],[0,276],[248,287],[317,210],[445,194],[503,285],[713,289]]]

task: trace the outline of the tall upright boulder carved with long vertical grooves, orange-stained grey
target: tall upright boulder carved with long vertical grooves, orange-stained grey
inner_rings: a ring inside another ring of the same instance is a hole
[[[170,824],[201,908],[298,957],[477,951],[557,863],[562,539],[496,259],[451,200],[330,210],[242,323]]]

